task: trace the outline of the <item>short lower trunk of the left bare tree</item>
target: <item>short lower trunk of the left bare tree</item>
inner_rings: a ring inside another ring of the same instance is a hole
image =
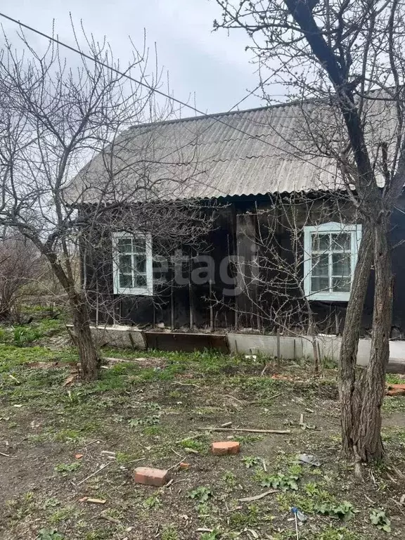
[[[86,300],[81,295],[74,295],[70,299],[70,307],[75,337],[77,338],[82,378],[86,381],[96,380],[101,361],[91,336]]]

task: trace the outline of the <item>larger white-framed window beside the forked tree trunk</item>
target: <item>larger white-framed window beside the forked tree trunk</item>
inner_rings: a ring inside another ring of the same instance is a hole
[[[310,300],[349,300],[360,240],[361,225],[304,227],[304,290]]]

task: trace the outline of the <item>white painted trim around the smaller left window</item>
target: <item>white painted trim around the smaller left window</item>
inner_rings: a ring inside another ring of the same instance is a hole
[[[119,238],[145,238],[146,240],[146,287],[120,287],[120,268],[118,265],[118,239]],[[153,296],[153,254],[151,233],[126,233],[120,231],[113,233],[113,281],[115,295]]]

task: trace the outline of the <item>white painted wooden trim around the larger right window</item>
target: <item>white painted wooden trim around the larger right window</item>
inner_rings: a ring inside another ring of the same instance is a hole
[[[326,300],[337,302],[348,302],[350,293],[344,292],[317,292],[311,293],[311,271],[312,271],[312,233],[351,233],[352,235],[352,259],[351,259],[351,282],[353,282],[354,269],[357,262],[357,254],[359,251],[361,240],[361,225],[360,224],[344,224],[331,221],[320,225],[311,225],[304,227],[304,292],[309,300]]]

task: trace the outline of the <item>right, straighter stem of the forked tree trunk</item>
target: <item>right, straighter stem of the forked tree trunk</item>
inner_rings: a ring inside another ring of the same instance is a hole
[[[359,432],[354,445],[361,461],[383,457],[381,406],[385,394],[385,371],[390,359],[392,322],[392,267],[388,239],[390,220],[383,218],[374,229],[375,293],[371,355],[363,381]]]

